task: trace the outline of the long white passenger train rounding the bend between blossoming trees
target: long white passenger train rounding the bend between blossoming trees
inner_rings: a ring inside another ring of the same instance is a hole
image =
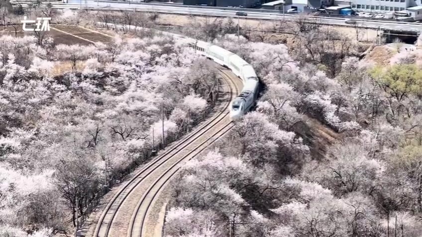
[[[185,38],[186,39],[186,38]],[[243,81],[243,89],[230,103],[230,118],[239,119],[250,110],[258,96],[258,77],[253,67],[239,56],[221,47],[204,41],[194,41],[191,47],[198,54],[204,55],[233,71]]]

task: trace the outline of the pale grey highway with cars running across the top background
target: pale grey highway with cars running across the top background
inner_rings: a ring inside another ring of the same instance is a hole
[[[192,14],[192,15],[208,15],[208,16],[225,16],[237,17],[237,11],[244,11],[248,15],[248,19],[265,19],[265,20],[292,20],[296,15],[284,15],[277,11],[248,9],[248,8],[229,8],[229,7],[204,7],[204,6],[186,6],[181,4],[171,3],[128,3],[124,1],[95,1],[95,0],[69,0],[68,3],[53,3],[55,8],[89,8],[89,9],[104,9],[104,10],[136,10],[136,11],[155,11],[162,13],[176,13],[176,14]],[[243,18],[244,16],[242,16]],[[308,16],[308,18],[316,19],[317,22],[329,25],[351,26],[345,23],[345,18],[326,17],[326,16]],[[357,24],[365,28],[378,28],[384,30],[396,31],[422,31],[422,23],[411,22],[396,22],[386,21],[382,19],[362,18],[356,19]]]

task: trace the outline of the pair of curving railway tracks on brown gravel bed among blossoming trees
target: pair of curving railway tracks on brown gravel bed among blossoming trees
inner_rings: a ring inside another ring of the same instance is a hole
[[[228,69],[220,71],[230,88],[228,98],[220,105],[220,111],[177,145],[147,164],[112,197],[98,221],[95,237],[153,235],[147,226],[147,216],[158,193],[185,162],[198,155],[233,126],[228,116],[228,106],[238,94],[239,85],[231,79],[235,76],[229,76]]]

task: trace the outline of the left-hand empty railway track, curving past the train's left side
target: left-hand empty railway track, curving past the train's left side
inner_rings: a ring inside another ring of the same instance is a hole
[[[205,124],[198,127],[194,132],[189,134],[185,139],[179,142],[176,146],[171,148],[169,151],[165,152],[164,154],[160,155],[155,160],[151,161],[149,164],[146,165],[138,174],[136,174],[133,178],[131,178],[111,199],[111,201],[107,204],[106,209],[103,211],[100,220],[97,224],[95,230],[95,237],[107,237],[110,231],[110,227],[113,223],[113,220],[116,216],[117,211],[119,210],[120,206],[126,200],[126,197],[141,183],[145,178],[148,177],[152,172],[158,169],[161,165],[165,164],[171,158],[173,158],[179,150],[183,150],[185,147],[189,146],[192,142],[200,138],[202,135],[206,134],[212,127],[218,124],[222,119],[224,119],[227,115],[227,108],[229,106],[229,102],[232,100],[233,95],[237,95],[237,88],[234,92],[232,85],[224,78],[228,87],[230,88],[230,96],[228,102],[225,103],[223,110],[217,113],[210,121],[206,122]],[[173,154],[172,154],[173,153]]]

